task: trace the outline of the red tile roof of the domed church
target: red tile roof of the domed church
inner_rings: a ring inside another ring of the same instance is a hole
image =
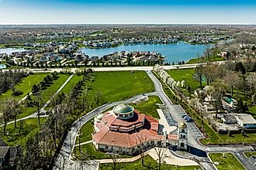
[[[116,127],[127,129],[139,124],[144,124],[140,131],[121,132],[110,130],[110,128]],[[134,117],[127,120],[118,119],[112,113],[105,113],[102,117],[102,122],[97,123],[96,126],[100,131],[93,135],[93,139],[102,145],[132,148],[141,142],[150,140],[162,141],[164,139],[164,136],[157,135],[158,121],[154,117],[140,114],[137,110],[134,113]]]

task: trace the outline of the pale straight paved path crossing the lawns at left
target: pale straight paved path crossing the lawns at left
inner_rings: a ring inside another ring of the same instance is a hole
[[[54,100],[54,97],[56,97],[57,94],[61,92],[61,90],[67,85],[67,83],[71,80],[71,78],[72,78],[73,76],[74,76],[74,74],[72,74],[71,76],[69,76],[68,79],[65,81],[65,83],[63,83],[62,86],[57,90],[57,92],[54,93],[54,96],[50,97],[50,100],[48,100],[47,103],[43,104],[43,107],[40,109],[40,112],[42,112],[42,111],[45,110],[45,108],[50,104],[50,102],[51,102],[52,100]],[[25,97],[24,97],[24,98],[25,98]],[[24,99],[24,98],[23,98],[23,99]],[[22,100],[23,100],[23,99],[22,99]],[[25,98],[24,100],[26,100],[26,98]],[[17,119],[16,122],[22,121],[22,120],[26,120],[26,119],[29,119],[29,118],[36,118],[36,117],[38,117],[38,116],[37,116],[37,111],[36,111],[35,113],[33,113],[33,114],[30,114],[29,116],[26,116],[26,117],[22,117],[22,118],[20,118],[20,119]],[[48,115],[40,115],[40,117],[48,117]],[[8,122],[7,124],[13,124],[13,123],[14,123],[14,121],[10,121],[10,122]]]

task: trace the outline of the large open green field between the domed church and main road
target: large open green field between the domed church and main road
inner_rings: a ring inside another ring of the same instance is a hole
[[[105,102],[112,102],[151,91],[154,91],[154,83],[144,71],[97,72],[89,96],[101,92]]]

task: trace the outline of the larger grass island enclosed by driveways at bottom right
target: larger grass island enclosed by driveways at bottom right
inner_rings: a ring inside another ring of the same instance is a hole
[[[216,165],[219,170],[243,170],[245,169],[243,165],[237,160],[237,158],[231,153],[213,153],[209,154],[209,157],[213,162],[219,162],[220,165]]]

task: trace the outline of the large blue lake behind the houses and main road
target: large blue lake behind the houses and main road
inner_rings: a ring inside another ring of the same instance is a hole
[[[184,60],[185,62],[189,59],[197,57],[197,53],[202,55],[205,52],[207,45],[199,44],[192,45],[185,42],[171,43],[171,44],[138,44],[130,46],[117,46],[114,48],[106,49],[81,49],[82,52],[88,56],[105,56],[110,53],[115,53],[119,51],[150,51],[161,53],[166,56],[168,62],[178,63]]]

